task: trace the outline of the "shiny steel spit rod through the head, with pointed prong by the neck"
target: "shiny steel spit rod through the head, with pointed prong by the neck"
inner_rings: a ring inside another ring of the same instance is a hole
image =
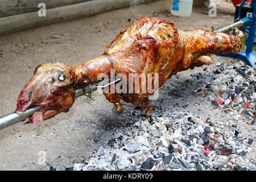
[[[98,86],[98,85],[103,83],[104,81],[93,82],[90,86],[86,86],[84,88],[77,89],[76,93],[75,93],[75,97],[83,96],[86,93],[90,94],[90,93],[96,91],[98,88],[101,88],[101,89],[105,88],[106,86],[112,85],[115,82],[118,82],[121,80],[122,80],[122,78],[118,78],[117,80],[114,80],[114,81],[110,82],[109,84],[102,85],[102,86]],[[10,114],[3,115],[2,117],[0,117],[0,130],[31,117],[31,115],[33,113],[35,113],[36,111],[39,111],[41,109],[42,108],[40,106],[33,106],[30,109],[27,109],[22,114],[13,112]]]

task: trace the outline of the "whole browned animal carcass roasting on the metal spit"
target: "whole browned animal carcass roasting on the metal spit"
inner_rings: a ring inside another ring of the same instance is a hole
[[[129,73],[152,73],[153,76],[158,73],[161,86],[179,71],[211,64],[210,53],[239,52],[240,39],[241,35],[238,37],[200,28],[178,31],[172,22],[143,17],[121,32],[108,50],[96,59],[75,67],[62,63],[39,66],[32,81],[20,93],[16,111],[40,105],[45,107],[43,118],[48,118],[67,110],[73,104],[77,86],[97,81],[100,73],[110,75],[110,69],[114,69],[115,74],[124,73],[127,78]],[[64,82],[57,79],[60,73],[66,75]],[[30,92],[32,96],[28,98]],[[144,113],[152,113],[148,103],[149,93],[104,94],[119,113],[122,111],[120,100],[141,104]],[[51,103],[49,109],[45,104],[48,102]]]

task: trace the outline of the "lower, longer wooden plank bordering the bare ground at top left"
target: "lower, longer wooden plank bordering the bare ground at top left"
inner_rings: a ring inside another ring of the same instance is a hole
[[[158,0],[137,0],[136,5]],[[103,13],[109,10],[129,7],[133,0],[94,0],[75,5],[56,7],[46,10],[46,17],[39,17],[38,11],[0,18],[0,36],[45,26],[47,24],[64,22],[67,20],[83,18],[85,16]]]

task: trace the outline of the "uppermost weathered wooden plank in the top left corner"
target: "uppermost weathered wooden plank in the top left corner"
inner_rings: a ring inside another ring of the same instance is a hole
[[[0,18],[37,11],[38,4],[43,2],[47,9],[92,0],[0,0]]]

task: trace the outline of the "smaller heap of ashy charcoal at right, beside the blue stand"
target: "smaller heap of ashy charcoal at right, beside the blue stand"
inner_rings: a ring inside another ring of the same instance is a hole
[[[243,119],[254,124],[256,119],[256,71],[242,61],[236,64],[220,63],[205,67],[203,73],[191,75],[204,80],[204,86],[195,90],[208,97],[212,108],[222,109],[234,121]]]

